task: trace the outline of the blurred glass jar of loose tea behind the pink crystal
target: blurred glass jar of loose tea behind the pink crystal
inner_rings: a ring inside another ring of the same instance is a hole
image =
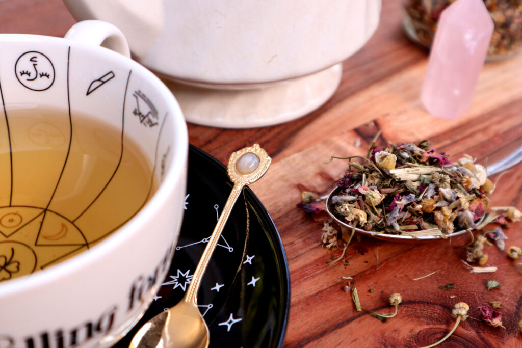
[[[404,29],[413,41],[430,47],[442,11],[455,0],[402,0]],[[484,0],[495,24],[488,60],[511,56],[522,47],[522,0]]]

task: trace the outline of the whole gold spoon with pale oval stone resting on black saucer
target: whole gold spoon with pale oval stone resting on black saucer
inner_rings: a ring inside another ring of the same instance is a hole
[[[130,348],[152,347],[208,347],[208,326],[197,306],[197,293],[208,262],[228,220],[232,207],[244,186],[262,177],[272,159],[265,150],[254,144],[230,155],[227,173],[234,183],[219,220],[203,251],[194,276],[182,300],[145,323],[134,335]]]

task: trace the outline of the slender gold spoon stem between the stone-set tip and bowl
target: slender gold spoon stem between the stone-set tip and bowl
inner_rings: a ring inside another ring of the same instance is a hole
[[[194,275],[192,277],[191,283],[188,286],[188,290],[183,297],[183,301],[193,302],[197,305],[197,293],[199,290],[199,285],[201,284],[201,279],[203,279],[203,274],[207,269],[208,262],[210,261],[210,257],[212,256],[214,249],[216,249],[219,237],[221,236],[223,227],[227,223],[235,201],[238,200],[238,197],[241,194],[241,190],[244,186],[244,183],[235,183],[234,187],[232,187],[232,191],[230,192],[227,202],[223,207],[223,211],[221,211],[221,215],[219,216],[218,223],[216,224],[216,227],[214,227],[214,231],[208,240],[208,244],[203,251],[203,255],[201,255],[201,259],[199,260],[197,268],[194,271]]]

